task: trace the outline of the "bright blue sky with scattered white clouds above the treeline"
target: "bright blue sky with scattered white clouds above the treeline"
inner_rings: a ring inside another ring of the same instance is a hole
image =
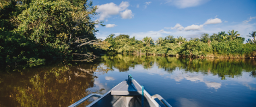
[[[255,0],[92,0],[98,5],[93,20],[97,38],[109,34],[128,34],[137,40],[150,36],[154,40],[172,35],[185,38],[236,30],[244,38],[256,31]]]

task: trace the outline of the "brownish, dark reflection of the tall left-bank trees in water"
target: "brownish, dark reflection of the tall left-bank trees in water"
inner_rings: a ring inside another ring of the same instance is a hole
[[[5,69],[0,75],[0,106],[69,106],[92,93],[86,90],[94,87],[95,71],[108,71],[98,65]]]

